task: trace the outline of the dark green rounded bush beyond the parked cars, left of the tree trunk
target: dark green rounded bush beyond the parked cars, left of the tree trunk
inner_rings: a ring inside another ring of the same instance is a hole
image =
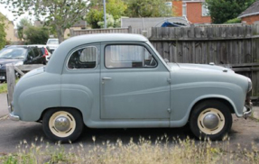
[[[49,39],[49,30],[46,27],[28,26],[24,29],[27,44],[46,44]]]

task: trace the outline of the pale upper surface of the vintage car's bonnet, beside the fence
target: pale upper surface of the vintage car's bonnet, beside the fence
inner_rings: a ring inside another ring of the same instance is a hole
[[[234,72],[230,68],[223,68],[221,66],[216,66],[214,64],[189,64],[189,63],[167,63],[167,65],[172,69],[188,69],[188,70],[198,70],[198,71],[219,71],[219,72]]]

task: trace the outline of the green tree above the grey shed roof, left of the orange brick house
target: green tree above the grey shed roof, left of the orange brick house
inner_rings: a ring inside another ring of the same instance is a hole
[[[171,16],[171,7],[165,5],[167,0],[126,0],[129,17]]]

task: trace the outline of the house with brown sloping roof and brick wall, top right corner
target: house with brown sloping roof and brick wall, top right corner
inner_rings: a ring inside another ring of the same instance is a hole
[[[250,5],[242,14],[237,18],[241,18],[242,22],[247,24],[259,24],[259,1]]]

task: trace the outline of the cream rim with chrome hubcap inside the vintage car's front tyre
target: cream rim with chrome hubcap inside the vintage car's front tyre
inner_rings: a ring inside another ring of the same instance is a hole
[[[208,123],[209,118],[212,123]],[[216,108],[207,108],[199,114],[197,123],[200,132],[211,135],[222,131],[226,120],[225,116]]]

